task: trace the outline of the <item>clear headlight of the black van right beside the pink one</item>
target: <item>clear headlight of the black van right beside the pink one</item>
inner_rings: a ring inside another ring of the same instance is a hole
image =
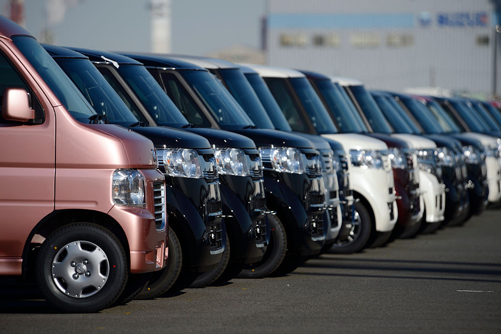
[[[198,153],[195,150],[174,148],[162,151],[165,174],[177,177],[203,177]]]

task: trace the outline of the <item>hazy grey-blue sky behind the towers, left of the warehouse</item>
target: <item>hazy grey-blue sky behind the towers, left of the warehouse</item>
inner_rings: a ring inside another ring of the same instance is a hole
[[[0,13],[9,16],[8,0]],[[40,42],[149,52],[150,0],[25,0],[25,28]],[[266,0],[171,0],[171,53],[207,55],[233,45],[260,47]],[[51,10],[48,10],[51,8]],[[66,8],[66,11],[65,11]],[[49,13],[49,15],[48,15]]]

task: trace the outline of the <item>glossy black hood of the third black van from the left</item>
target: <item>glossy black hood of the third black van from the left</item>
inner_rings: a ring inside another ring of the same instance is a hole
[[[235,132],[247,136],[254,140],[258,147],[297,147],[313,148],[314,145],[306,138],[300,137],[290,132],[272,129],[241,129]]]

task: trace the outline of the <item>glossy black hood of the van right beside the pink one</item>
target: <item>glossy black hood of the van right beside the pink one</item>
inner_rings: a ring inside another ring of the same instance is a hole
[[[207,139],[184,130],[164,126],[134,127],[130,128],[130,130],[147,137],[157,148],[162,148],[164,146],[169,148],[210,148]]]

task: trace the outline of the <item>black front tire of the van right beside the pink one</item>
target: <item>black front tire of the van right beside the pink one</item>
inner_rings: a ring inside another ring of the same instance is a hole
[[[139,292],[136,299],[156,298],[169,290],[181,273],[182,250],[176,233],[169,227],[167,240],[168,258],[165,268],[153,272],[148,284]]]

